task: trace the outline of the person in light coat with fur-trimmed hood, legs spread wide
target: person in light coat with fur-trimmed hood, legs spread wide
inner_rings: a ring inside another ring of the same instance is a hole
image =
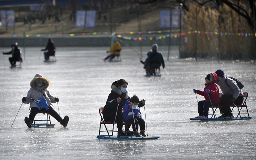
[[[41,74],[36,74],[36,76],[30,82],[30,89],[28,91],[27,97],[22,98],[22,102],[25,104],[30,103],[30,114],[29,117],[25,117],[25,123],[28,128],[31,128],[32,123],[36,114],[40,111],[44,111],[60,122],[63,127],[68,124],[68,116],[64,119],[52,108],[52,103],[59,101],[59,98],[53,97],[47,90],[50,86],[50,81],[44,78]],[[52,103],[51,103],[52,102]]]

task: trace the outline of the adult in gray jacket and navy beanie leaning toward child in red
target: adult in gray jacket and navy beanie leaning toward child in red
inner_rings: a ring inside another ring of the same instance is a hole
[[[223,93],[222,99],[220,100],[223,115],[219,116],[218,118],[234,118],[233,114],[231,113],[230,104],[234,103],[236,105],[241,105],[244,101],[243,92],[237,86],[236,81],[225,76],[225,73],[222,69],[218,69],[215,71],[215,73],[218,76],[216,84],[220,86],[221,92]]]

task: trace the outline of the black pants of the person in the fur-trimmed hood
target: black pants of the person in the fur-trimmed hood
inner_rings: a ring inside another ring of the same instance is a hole
[[[41,110],[39,110],[37,107],[32,107],[30,108],[30,114],[29,114],[29,119],[34,122],[34,118],[36,116],[36,114],[40,111],[44,111],[45,113],[48,113],[49,115],[51,115],[53,118],[55,118],[58,122],[60,122],[62,120],[62,118],[60,117],[60,115],[50,106],[49,109],[45,109],[42,108]]]

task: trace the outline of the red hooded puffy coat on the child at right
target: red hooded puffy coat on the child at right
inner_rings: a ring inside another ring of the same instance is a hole
[[[213,100],[216,103],[219,103],[220,101],[219,88],[215,84],[217,82],[218,76],[216,73],[210,73],[210,75],[211,75],[210,81],[208,84],[205,84],[204,91],[197,90],[197,94],[204,96],[205,100],[210,100],[209,99],[209,96],[210,96],[211,100]],[[206,89],[209,89],[211,91],[209,96],[205,91]]]

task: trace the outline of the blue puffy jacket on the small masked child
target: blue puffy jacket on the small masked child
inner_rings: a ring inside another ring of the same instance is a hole
[[[140,108],[137,106],[130,108],[130,99],[125,102],[125,105],[123,107],[124,109],[124,120],[127,121],[128,119],[132,118],[133,115],[137,117],[141,117]],[[132,114],[133,111],[133,114]]]

